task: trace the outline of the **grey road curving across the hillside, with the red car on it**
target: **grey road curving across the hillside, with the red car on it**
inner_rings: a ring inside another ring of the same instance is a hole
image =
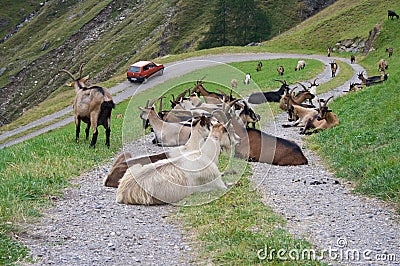
[[[252,61],[252,60],[271,60],[271,59],[279,59],[279,58],[304,58],[304,59],[315,59],[323,62],[327,67],[325,68],[324,72],[320,73],[317,77],[319,78],[318,81],[319,83],[324,83],[330,80],[330,69],[328,67],[329,62],[332,60],[340,60],[343,61],[347,64],[349,64],[353,70],[354,73],[358,73],[360,71],[365,71],[364,68],[362,68],[358,64],[350,64],[349,59],[345,58],[340,58],[340,57],[326,57],[326,56],[321,56],[321,55],[305,55],[305,54],[282,54],[282,53],[245,53],[245,54],[223,54],[223,55],[207,55],[207,56],[200,56],[200,57],[194,57],[194,58],[189,58],[181,61],[177,61],[174,63],[168,63],[165,65],[166,70],[163,76],[158,76],[157,78],[150,79],[147,83],[145,84],[133,84],[130,83],[129,81],[122,82],[112,88],[110,88],[110,92],[114,95],[114,101],[115,103],[122,102],[136,93],[139,93],[141,91],[144,91],[148,88],[154,87],[158,84],[164,83],[167,80],[177,78],[179,76],[182,76],[184,74],[190,73],[192,71],[205,68],[205,67],[210,67],[210,66],[216,66],[219,64],[225,64],[225,63],[232,63],[232,62],[243,62],[243,61]],[[340,71],[340,70],[339,70]],[[342,90],[342,88],[338,89],[337,92]],[[71,122],[74,121],[73,116],[72,116],[72,106],[69,106],[61,111],[58,111],[56,113],[53,113],[51,115],[44,116],[41,119],[38,119],[30,124],[27,124],[25,126],[19,127],[15,130],[5,132],[0,135],[0,141],[4,140],[6,138],[9,138],[11,136],[21,134],[29,129],[32,129],[34,127],[40,126],[45,123],[49,123],[55,119],[58,119],[60,117],[66,116],[68,114],[71,114],[69,117],[54,122],[51,125],[48,125],[46,127],[43,127],[41,129],[38,129],[34,132],[31,132],[29,134],[26,134],[22,137],[4,142],[0,144],[0,149],[8,146],[12,146],[14,144],[23,142],[27,139],[36,137],[40,134],[46,133],[50,130],[53,130],[55,128],[59,128],[62,126],[65,126]]]

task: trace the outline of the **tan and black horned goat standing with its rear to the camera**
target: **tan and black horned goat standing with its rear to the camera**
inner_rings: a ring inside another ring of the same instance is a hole
[[[100,86],[86,87],[85,82],[89,76],[82,77],[82,64],[79,68],[79,77],[75,78],[68,70],[62,69],[61,72],[67,73],[73,80],[68,84],[75,89],[74,116],[75,116],[75,140],[79,142],[81,121],[86,123],[86,139],[89,138],[90,127],[93,129],[92,141],[90,146],[95,148],[97,142],[97,127],[102,125],[106,129],[106,145],[110,147],[111,134],[111,112],[115,108],[115,103],[110,92]]]

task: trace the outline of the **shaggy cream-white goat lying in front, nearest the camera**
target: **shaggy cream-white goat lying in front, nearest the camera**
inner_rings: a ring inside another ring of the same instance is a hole
[[[120,180],[116,201],[123,204],[176,203],[195,192],[226,189],[218,169],[221,145],[230,145],[223,124],[211,128],[198,150],[155,163],[133,165]]]

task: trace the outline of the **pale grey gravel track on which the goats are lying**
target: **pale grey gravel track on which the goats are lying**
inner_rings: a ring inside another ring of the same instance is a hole
[[[215,64],[215,61],[279,57],[314,58],[325,63],[332,59],[257,54],[235,55],[233,59],[228,55],[213,56],[209,59],[212,61],[204,62]],[[355,73],[362,70],[358,65],[352,67]],[[319,75],[319,81],[322,83],[329,79],[327,68]],[[327,96],[336,97],[343,90],[339,87]],[[265,131],[294,140],[302,146],[298,129],[282,129],[280,125],[283,123],[286,123],[285,114],[277,116]],[[150,138],[138,140],[125,150],[137,155],[149,152],[149,147],[154,147],[149,145]],[[252,181],[254,187],[264,194],[265,204],[286,217],[287,229],[294,236],[310,240],[320,251],[333,251],[330,255],[325,254],[324,261],[333,265],[400,265],[399,216],[379,200],[353,194],[349,182],[337,180],[313,152],[307,149],[304,152],[309,165],[279,167],[252,163]],[[102,185],[112,162],[113,158],[110,158],[108,164],[76,177],[63,197],[55,200],[54,207],[46,211],[38,223],[25,226],[20,240],[31,250],[35,264],[197,264],[189,237],[173,219],[176,207],[115,203],[115,189]],[[348,250],[358,252],[360,257],[346,257]],[[387,261],[379,263],[378,255]]]

